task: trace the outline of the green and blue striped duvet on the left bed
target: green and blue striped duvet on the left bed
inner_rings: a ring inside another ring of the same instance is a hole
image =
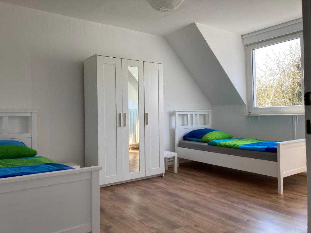
[[[42,156],[0,159],[0,178],[74,169]]]

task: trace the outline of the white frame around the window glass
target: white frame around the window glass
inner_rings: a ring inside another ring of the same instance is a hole
[[[253,65],[254,62],[252,58],[252,50],[256,48],[262,48],[265,46],[285,42],[292,39],[300,38],[300,47],[301,47],[301,95],[302,95],[302,105],[299,106],[283,106],[283,107],[254,107],[254,99],[256,92],[255,76],[253,75]],[[248,113],[249,114],[292,114],[292,113],[304,113],[304,41],[303,33],[298,32],[295,34],[290,34],[282,36],[276,39],[271,39],[268,41],[247,45],[246,47],[246,59],[247,59],[247,85],[248,85]]]

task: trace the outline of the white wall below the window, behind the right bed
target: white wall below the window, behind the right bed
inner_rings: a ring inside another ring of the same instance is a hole
[[[230,133],[234,138],[257,138],[272,141],[292,140],[292,116],[241,116],[246,114],[244,105],[213,105],[213,128]],[[304,117],[298,117],[296,138],[305,138]]]

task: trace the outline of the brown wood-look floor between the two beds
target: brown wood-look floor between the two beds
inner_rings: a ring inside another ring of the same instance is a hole
[[[306,176],[277,179],[208,164],[100,189],[101,232],[307,232]]]

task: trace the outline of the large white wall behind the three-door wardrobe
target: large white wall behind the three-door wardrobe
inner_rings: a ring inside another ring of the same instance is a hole
[[[211,109],[160,36],[0,3],[0,109],[36,109],[38,152],[84,165],[83,60],[95,53],[164,64],[165,149],[175,109]]]

